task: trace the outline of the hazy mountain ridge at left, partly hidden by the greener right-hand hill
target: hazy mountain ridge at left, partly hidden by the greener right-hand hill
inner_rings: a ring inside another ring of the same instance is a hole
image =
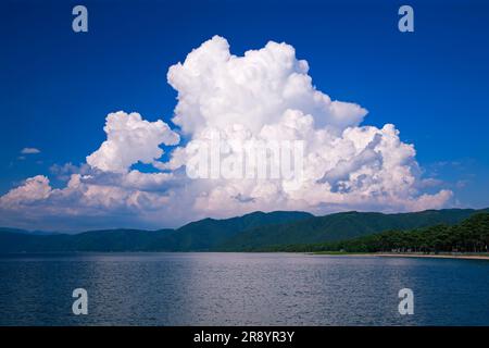
[[[203,219],[177,229],[101,229],[78,234],[33,235],[0,227],[0,252],[64,251],[211,251],[244,229],[312,217],[306,212],[253,212],[242,216]]]

